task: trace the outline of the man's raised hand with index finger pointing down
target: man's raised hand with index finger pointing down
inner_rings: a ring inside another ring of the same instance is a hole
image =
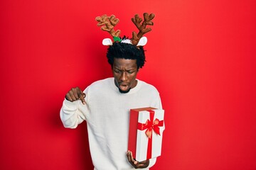
[[[82,104],[85,104],[85,94],[82,93],[79,87],[72,88],[70,91],[68,91],[65,98],[71,102],[80,100],[82,101]]]

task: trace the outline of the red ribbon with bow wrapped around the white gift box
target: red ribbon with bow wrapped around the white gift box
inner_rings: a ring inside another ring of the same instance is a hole
[[[164,120],[159,120],[156,118],[154,121],[154,111],[149,111],[149,119],[146,120],[146,123],[138,123],[138,130],[146,130],[145,134],[149,137],[148,147],[146,151],[146,159],[150,159],[152,155],[152,131],[157,135],[160,135],[160,128],[164,125]]]

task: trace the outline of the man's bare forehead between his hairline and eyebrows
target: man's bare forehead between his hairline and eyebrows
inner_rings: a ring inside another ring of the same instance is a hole
[[[137,68],[137,60],[114,58],[113,67],[125,69]]]

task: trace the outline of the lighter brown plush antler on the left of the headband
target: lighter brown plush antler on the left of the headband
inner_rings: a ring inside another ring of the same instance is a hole
[[[114,30],[114,26],[117,25],[117,23],[119,22],[119,19],[115,18],[114,15],[112,15],[112,16],[107,16],[107,15],[97,16],[95,18],[95,20],[99,22],[99,23],[97,23],[97,26],[102,26],[101,27],[102,30],[105,30],[108,33],[110,33],[110,35],[112,35],[112,37],[119,37],[121,31]]]

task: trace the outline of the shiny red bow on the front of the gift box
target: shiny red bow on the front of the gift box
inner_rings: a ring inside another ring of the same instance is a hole
[[[160,128],[159,126],[164,125],[164,120],[159,120],[156,118],[154,121],[152,121],[154,118],[154,113],[150,114],[150,120],[146,120],[146,123],[138,123],[138,130],[146,130],[146,136],[151,138],[152,136],[152,130],[156,132],[157,135],[160,135]]]

